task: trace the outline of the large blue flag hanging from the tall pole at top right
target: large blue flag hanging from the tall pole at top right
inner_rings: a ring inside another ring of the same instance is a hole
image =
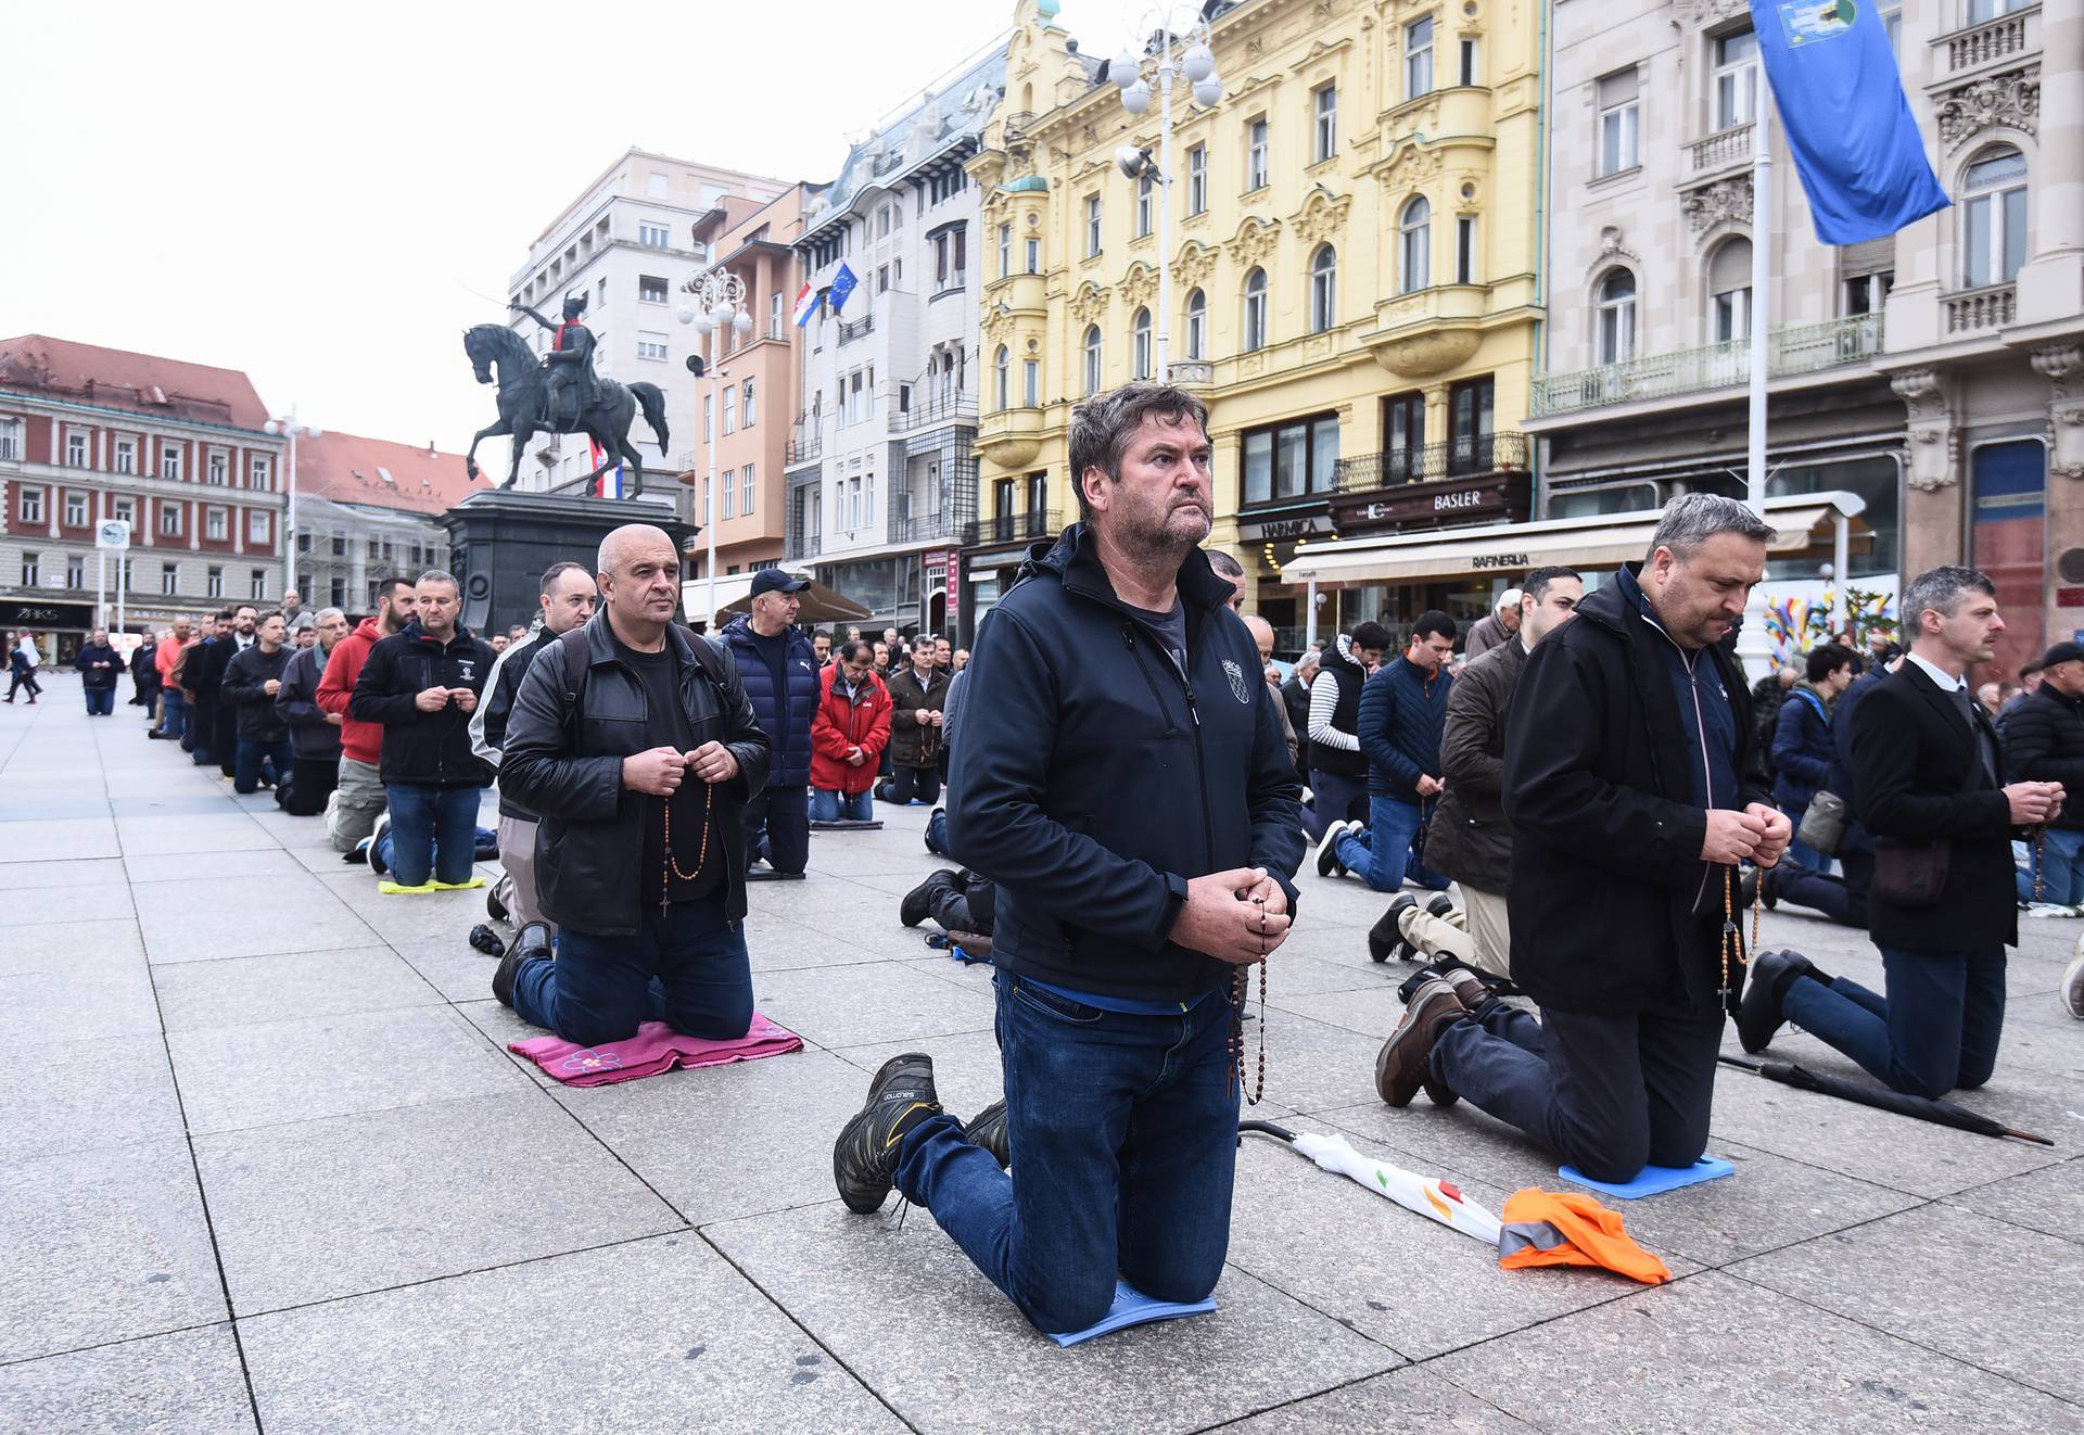
[[[1751,0],[1759,56],[1824,244],[1946,208],[1874,0]]]

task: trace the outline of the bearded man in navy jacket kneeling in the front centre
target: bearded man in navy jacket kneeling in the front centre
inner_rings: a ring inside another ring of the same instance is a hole
[[[894,1183],[1050,1333],[1107,1314],[1117,1277],[1190,1302],[1221,1275],[1230,993],[1286,937],[1302,856],[1259,650],[1196,548],[1200,400],[1130,383],[1080,404],[1071,473],[1088,519],[1036,546],[977,635],[948,783],[948,846],[998,883],[1004,1141],[973,1143],[911,1052],[834,1146],[850,1210]]]

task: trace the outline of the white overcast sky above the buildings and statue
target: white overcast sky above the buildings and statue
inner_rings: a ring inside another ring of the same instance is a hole
[[[1190,6],[1180,6],[1188,10]],[[1138,0],[1065,0],[1113,54]],[[1002,0],[15,4],[0,335],[244,369],[277,412],[461,450],[461,331],[631,144],[825,181]],[[475,294],[471,294],[475,289]]]

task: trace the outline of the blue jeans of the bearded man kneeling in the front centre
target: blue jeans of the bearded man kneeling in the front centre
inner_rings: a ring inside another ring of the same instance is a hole
[[[1205,1298],[1238,1160],[1230,1002],[1130,1016],[1011,973],[996,987],[1013,1175],[961,1121],[929,1116],[904,1137],[898,1191],[1044,1333],[1094,1325],[1117,1275],[1157,1300]]]

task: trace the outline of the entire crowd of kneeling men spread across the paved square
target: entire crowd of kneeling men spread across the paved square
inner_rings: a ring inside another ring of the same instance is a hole
[[[1467,631],[1384,616],[1277,664],[1240,564],[1202,548],[1209,462],[1192,394],[1082,404],[1080,521],[975,654],[807,631],[779,569],[696,633],[673,542],[627,525],[492,639],[423,573],[352,631],[235,606],[131,671],[154,737],[323,812],[381,893],[479,885],[496,852],[494,996],[584,1046],[642,1021],[746,1035],[748,883],[802,879],[813,831],[877,825],[877,800],[929,806],[950,866],[898,921],[990,960],[1002,1100],[963,1121],[925,1054],[894,1056],[834,1181],[854,1212],[892,1189],[925,1208],[1050,1333],[1098,1320],[1117,1279],[1215,1285],[1248,977],[1277,966],[1305,860],[1390,898],[1375,960],[1423,958],[1382,1100],[1469,1102],[1594,1179],[1703,1154],[1732,1018],[1753,1052],[1798,1023],[1899,1091],[1990,1081],[2021,906],[2084,912],[2084,646],[2009,702],[1971,694],[1996,591],[1936,569],[1899,633],[1753,689],[1734,633],[1771,529],[1696,494],[1603,583],[1534,569]],[[1884,989],[1748,950],[1753,902],[1867,927]]]

